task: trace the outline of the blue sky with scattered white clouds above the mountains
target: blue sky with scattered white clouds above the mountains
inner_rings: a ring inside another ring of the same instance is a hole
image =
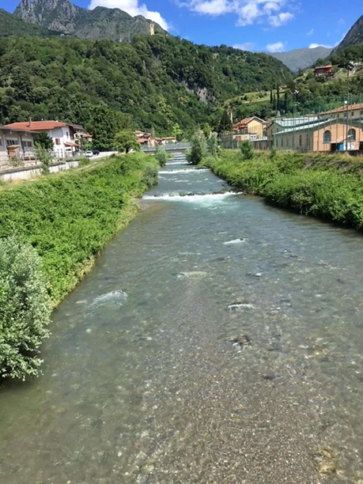
[[[18,0],[0,0],[13,12]],[[363,14],[362,0],[74,0],[157,21],[173,35],[197,44],[227,44],[247,50],[285,51],[336,45]]]

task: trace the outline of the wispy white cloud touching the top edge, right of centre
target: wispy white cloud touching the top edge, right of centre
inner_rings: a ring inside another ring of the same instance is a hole
[[[92,0],[96,1],[96,0]],[[237,25],[251,25],[267,18],[272,27],[280,27],[294,18],[289,12],[278,13],[287,0],[175,0],[180,7],[202,15],[235,14]]]

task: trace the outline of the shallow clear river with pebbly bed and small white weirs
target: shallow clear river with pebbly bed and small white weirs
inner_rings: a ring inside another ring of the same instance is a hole
[[[159,179],[1,389],[0,483],[362,484],[362,237]]]

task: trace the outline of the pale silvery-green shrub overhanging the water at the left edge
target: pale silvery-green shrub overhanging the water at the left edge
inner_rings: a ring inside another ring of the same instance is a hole
[[[39,375],[51,307],[36,250],[14,235],[0,240],[0,377]]]

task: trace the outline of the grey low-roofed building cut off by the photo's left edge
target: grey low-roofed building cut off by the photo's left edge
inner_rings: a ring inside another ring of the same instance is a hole
[[[0,126],[0,169],[35,164],[34,133]]]

